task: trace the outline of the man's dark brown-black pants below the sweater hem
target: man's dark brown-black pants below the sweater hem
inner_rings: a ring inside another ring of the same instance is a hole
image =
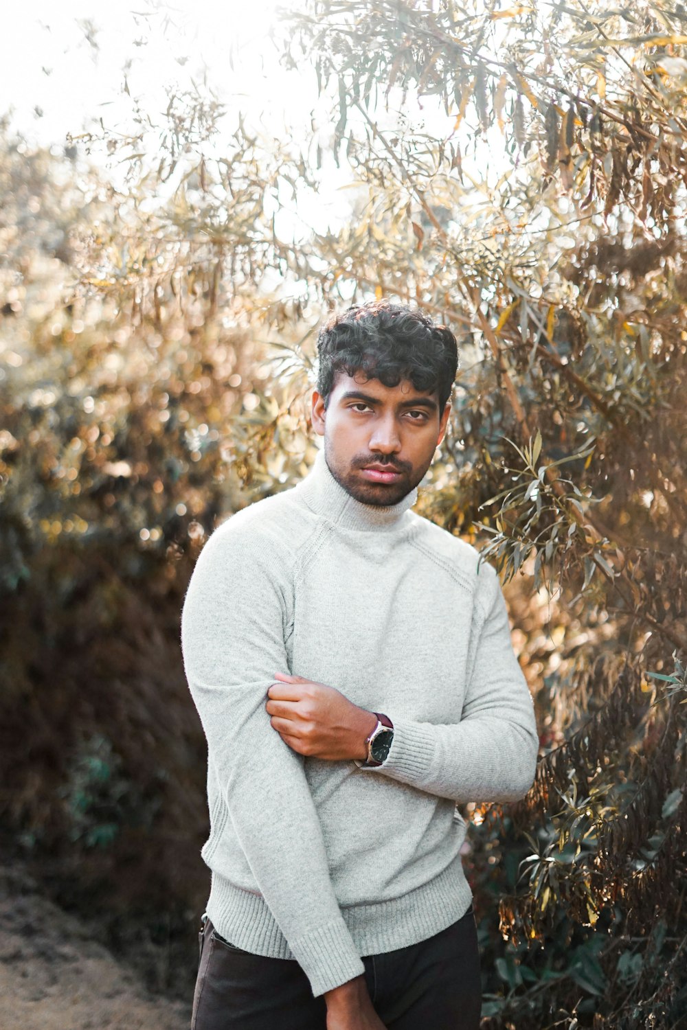
[[[209,919],[199,934],[192,1030],[327,1030],[327,1003],[313,998],[295,959],[245,952]],[[388,1030],[478,1030],[480,957],[472,904],[417,945],[363,957],[370,998]]]

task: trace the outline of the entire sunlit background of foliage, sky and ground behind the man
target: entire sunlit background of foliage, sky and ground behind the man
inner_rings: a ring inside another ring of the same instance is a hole
[[[683,5],[5,21],[2,1026],[187,1026],[184,592],[310,467],[321,320],[382,297],[458,339],[416,510],[499,568],[540,728],[527,797],[465,806],[483,1026],[687,1026]]]

